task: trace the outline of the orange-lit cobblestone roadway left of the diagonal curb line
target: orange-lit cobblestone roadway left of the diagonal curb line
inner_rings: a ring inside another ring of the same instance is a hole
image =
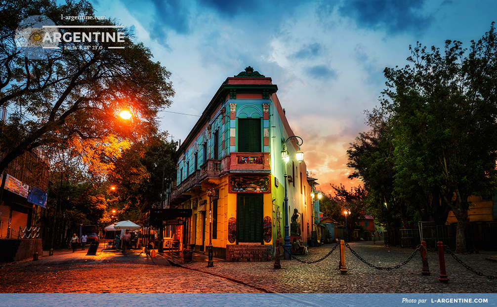
[[[202,272],[170,266],[141,250],[56,251],[38,261],[0,264],[2,293],[264,293]]]

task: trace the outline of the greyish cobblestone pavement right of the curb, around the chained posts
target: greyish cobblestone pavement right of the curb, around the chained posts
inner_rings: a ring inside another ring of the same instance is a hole
[[[331,251],[335,244],[312,247],[305,256],[296,256],[305,261],[319,260]],[[386,247],[382,242],[351,242],[350,247],[369,263],[380,267],[394,267],[405,261],[414,249]],[[497,276],[497,253],[483,251],[478,254],[457,255],[464,263],[485,275]],[[345,264],[348,272],[340,274],[338,269],[338,247],[325,260],[306,264],[298,260],[281,260],[281,269],[274,269],[273,262],[214,262],[207,267],[205,262],[181,263],[177,265],[192,270],[208,272],[240,281],[276,293],[497,293],[497,279],[478,276],[467,270],[452,256],[445,254],[447,284],[440,283],[438,254],[428,252],[431,275],[421,275],[419,252],[407,264],[398,269],[378,270],[363,263],[348,248]]]

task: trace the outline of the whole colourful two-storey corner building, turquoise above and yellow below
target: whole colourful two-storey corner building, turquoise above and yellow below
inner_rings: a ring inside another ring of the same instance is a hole
[[[250,67],[227,78],[179,147],[168,206],[192,209],[182,233],[176,232],[182,245],[193,244],[197,252],[206,252],[212,242],[214,257],[232,261],[270,258],[276,239],[284,236],[285,166],[288,224],[297,209],[293,234],[304,241],[311,236],[311,187],[305,161],[297,161],[295,142],[287,143],[289,162],[285,165],[281,158],[284,140],[294,134],[277,89],[271,78]],[[215,191],[212,200],[208,189]],[[235,245],[259,251],[245,254],[253,259],[239,259]]]

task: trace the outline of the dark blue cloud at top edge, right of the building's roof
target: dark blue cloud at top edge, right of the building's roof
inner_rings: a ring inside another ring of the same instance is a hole
[[[338,8],[340,14],[354,18],[365,28],[385,28],[397,34],[423,32],[431,25],[432,18],[421,13],[424,0],[365,0],[344,1]]]

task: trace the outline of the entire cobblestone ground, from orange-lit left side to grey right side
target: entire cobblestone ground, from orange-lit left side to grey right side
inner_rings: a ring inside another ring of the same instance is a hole
[[[327,255],[334,244],[310,248],[305,261]],[[413,252],[410,248],[386,247],[372,242],[351,242],[350,247],[366,261],[381,267],[401,264]],[[150,258],[141,250],[123,256],[103,250],[96,256],[78,250],[57,251],[38,261],[0,265],[3,293],[496,293],[495,279],[478,276],[445,255],[447,284],[438,281],[438,255],[428,252],[431,275],[421,275],[419,253],[404,266],[378,270],[346,249],[348,272],[338,270],[338,248],[323,261],[307,264],[298,260],[274,262],[226,262],[215,259],[207,267],[205,256],[196,254],[191,263],[179,257]],[[457,255],[484,275],[497,275],[496,252]]]

